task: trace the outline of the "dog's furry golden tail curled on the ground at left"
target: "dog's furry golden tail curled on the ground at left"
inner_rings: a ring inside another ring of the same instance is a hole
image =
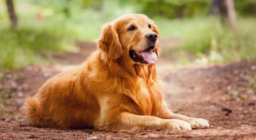
[[[51,119],[44,113],[42,107],[31,96],[26,98],[22,109],[26,116],[30,118],[32,125],[40,127],[53,126]]]

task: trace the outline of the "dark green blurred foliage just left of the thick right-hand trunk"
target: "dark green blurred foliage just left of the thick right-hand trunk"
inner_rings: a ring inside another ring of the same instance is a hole
[[[210,13],[210,0],[142,0],[142,5],[150,16],[187,18]]]

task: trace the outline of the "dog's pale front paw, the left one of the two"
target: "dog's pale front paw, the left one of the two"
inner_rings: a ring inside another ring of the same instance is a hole
[[[191,130],[190,123],[178,119],[168,120],[167,128],[164,130]]]

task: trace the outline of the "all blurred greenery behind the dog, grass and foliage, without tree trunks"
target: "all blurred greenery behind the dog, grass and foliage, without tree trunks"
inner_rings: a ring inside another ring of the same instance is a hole
[[[166,51],[166,58],[184,62],[256,58],[256,0],[234,2],[236,30],[210,16],[212,0],[14,0],[16,29],[10,28],[5,2],[0,1],[0,68],[51,60],[53,53],[72,50],[76,40],[96,40],[104,23],[130,13],[152,18],[162,39],[180,40],[169,49],[174,53]]]

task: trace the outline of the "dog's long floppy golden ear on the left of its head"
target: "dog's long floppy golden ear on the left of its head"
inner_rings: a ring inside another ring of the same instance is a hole
[[[98,47],[104,52],[107,52],[109,57],[113,59],[120,58],[124,53],[119,41],[117,27],[113,26],[111,22],[107,22],[102,26]]]

